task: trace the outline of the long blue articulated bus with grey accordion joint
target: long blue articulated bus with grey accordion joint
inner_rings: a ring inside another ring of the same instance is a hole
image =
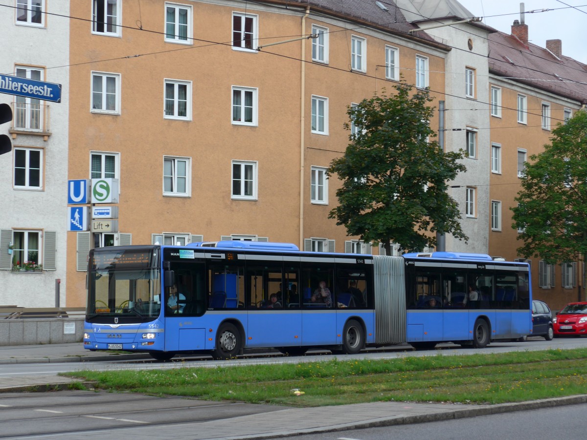
[[[90,251],[88,350],[218,359],[248,348],[353,354],[531,333],[527,263],[471,253],[373,256],[220,241]]]

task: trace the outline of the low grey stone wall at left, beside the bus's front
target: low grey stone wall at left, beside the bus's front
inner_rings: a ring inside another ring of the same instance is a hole
[[[85,307],[0,306],[0,346],[81,342]]]

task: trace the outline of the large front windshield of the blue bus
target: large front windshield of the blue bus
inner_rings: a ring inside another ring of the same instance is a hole
[[[152,320],[161,309],[160,271],[150,251],[102,251],[90,255],[88,320],[118,317],[120,322]]]

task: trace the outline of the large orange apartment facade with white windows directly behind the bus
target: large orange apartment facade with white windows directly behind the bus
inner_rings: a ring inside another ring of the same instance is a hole
[[[328,219],[347,107],[400,74],[442,99],[450,48],[391,2],[355,3],[71,2],[68,178],[117,179],[119,202],[116,229],[68,232],[68,306],[85,304],[93,246],[371,251]]]

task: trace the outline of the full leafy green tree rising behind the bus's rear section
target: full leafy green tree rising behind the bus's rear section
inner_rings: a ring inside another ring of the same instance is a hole
[[[428,90],[413,92],[404,82],[393,88],[396,93],[347,111],[356,130],[345,124],[350,143],[328,168],[343,181],[329,218],[345,225],[348,235],[383,243],[387,255],[390,242],[406,251],[436,245],[434,232],[467,240],[458,204],[447,194],[447,182],[465,170],[458,162],[463,151],[444,153],[433,140]]]

